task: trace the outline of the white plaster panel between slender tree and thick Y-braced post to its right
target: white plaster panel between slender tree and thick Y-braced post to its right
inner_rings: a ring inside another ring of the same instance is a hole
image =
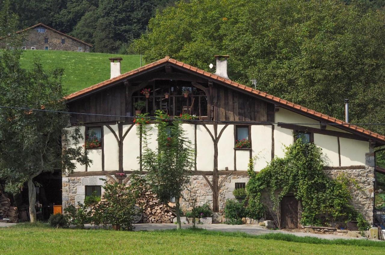
[[[211,134],[214,134],[213,125],[206,125]],[[233,131],[234,132],[234,131]],[[234,136],[234,134],[233,134]],[[233,138],[234,139],[234,138]],[[199,171],[213,171],[214,169],[214,142],[206,128],[202,125],[196,127],[197,157],[196,167]],[[234,144],[233,144],[234,148]]]

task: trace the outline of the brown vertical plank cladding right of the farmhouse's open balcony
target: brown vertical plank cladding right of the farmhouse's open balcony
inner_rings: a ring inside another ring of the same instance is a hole
[[[212,90],[213,103],[218,107],[218,121],[274,121],[274,104],[216,84]]]

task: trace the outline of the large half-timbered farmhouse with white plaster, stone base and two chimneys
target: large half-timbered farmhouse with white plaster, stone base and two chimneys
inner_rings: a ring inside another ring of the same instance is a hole
[[[247,184],[249,158],[255,158],[258,172],[274,157],[283,157],[284,146],[301,137],[322,149],[328,175],[343,173],[357,180],[362,188],[351,187],[353,205],[373,222],[373,149],[385,145],[385,136],[231,81],[228,56],[216,56],[216,73],[166,56],[121,75],[122,59],[110,60],[109,80],[66,97],[70,112],[109,116],[72,114],[72,126],[81,121],[84,135],[92,132],[101,142],[93,148],[85,146],[91,166],[79,165],[62,178],[64,208],[83,202],[94,191],[102,194],[104,182],[99,178],[115,179],[118,172],[129,175],[142,170],[137,159],[142,154],[142,137],[133,123],[134,104],[142,100],[143,111],[150,115],[162,109],[170,116],[198,116],[182,124],[195,149],[189,190],[196,192],[199,204],[209,203],[214,212],[222,212],[226,199],[234,198],[232,191]],[[145,88],[150,89],[149,95],[141,94]],[[236,148],[236,140],[241,139],[247,139],[250,147]],[[156,148],[156,136],[151,146]],[[185,210],[186,201],[181,204]],[[298,206],[294,196],[282,200],[281,215],[290,219],[282,219],[283,227],[298,227]]]

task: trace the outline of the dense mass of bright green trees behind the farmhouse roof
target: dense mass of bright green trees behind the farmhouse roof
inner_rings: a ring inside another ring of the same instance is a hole
[[[385,122],[385,15],[360,4],[325,1],[179,2],[158,12],[133,44],[152,62],[169,55],[209,70],[230,55],[229,77],[352,123]],[[371,126],[384,132],[383,126]]]

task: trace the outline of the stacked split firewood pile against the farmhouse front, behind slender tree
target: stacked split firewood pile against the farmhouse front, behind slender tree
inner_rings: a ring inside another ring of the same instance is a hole
[[[151,191],[143,192],[138,202],[143,208],[143,223],[171,223],[176,217],[174,212],[167,205],[159,202],[156,194]]]

